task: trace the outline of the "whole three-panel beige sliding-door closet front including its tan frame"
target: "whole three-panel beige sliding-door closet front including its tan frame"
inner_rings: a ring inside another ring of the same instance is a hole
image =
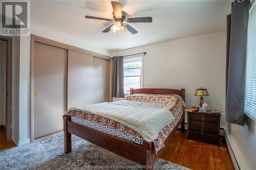
[[[70,107],[110,100],[110,60],[31,36],[31,139],[63,130]]]

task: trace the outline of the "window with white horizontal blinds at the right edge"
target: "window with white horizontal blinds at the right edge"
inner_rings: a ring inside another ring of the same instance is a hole
[[[249,11],[245,84],[245,114],[256,120],[256,3]]]

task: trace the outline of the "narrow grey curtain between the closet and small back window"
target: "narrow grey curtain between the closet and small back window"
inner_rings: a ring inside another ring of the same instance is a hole
[[[113,71],[112,71],[112,91],[113,98],[124,98],[123,90],[123,57],[113,57]]]

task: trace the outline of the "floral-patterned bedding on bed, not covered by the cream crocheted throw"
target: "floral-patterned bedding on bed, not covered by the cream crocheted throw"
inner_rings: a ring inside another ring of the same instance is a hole
[[[170,110],[170,114],[173,115],[174,120],[168,125],[165,125],[159,132],[157,138],[153,140],[156,152],[164,147],[165,139],[178,124],[185,109],[184,101],[179,95],[176,94],[132,94],[128,96],[125,100],[112,103],[119,105],[168,108]],[[69,111],[68,113],[66,113],[66,115],[71,115],[72,122],[125,140],[129,140],[138,144],[143,144],[144,139],[139,133],[129,127],[126,127],[116,122],[115,120],[95,114],[89,114],[79,110]]]

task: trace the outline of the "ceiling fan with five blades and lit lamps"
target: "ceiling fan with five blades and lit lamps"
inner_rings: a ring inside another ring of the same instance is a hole
[[[126,18],[126,13],[121,10],[121,4],[112,1],[111,2],[113,7],[113,19],[108,18],[101,18],[96,16],[88,16],[86,15],[86,18],[89,19],[99,19],[99,20],[106,20],[106,21],[114,21],[111,26],[103,30],[103,33],[108,33],[109,31],[112,31],[115,33],[117,30],[121,30],[122,33],[126,32],[127,30],[132,33],[136,34],[138,31],[136,31],[134,28],[132,28],[128,23],[132,22],[152,22],[152,17],[136,17],[136,18]]]

